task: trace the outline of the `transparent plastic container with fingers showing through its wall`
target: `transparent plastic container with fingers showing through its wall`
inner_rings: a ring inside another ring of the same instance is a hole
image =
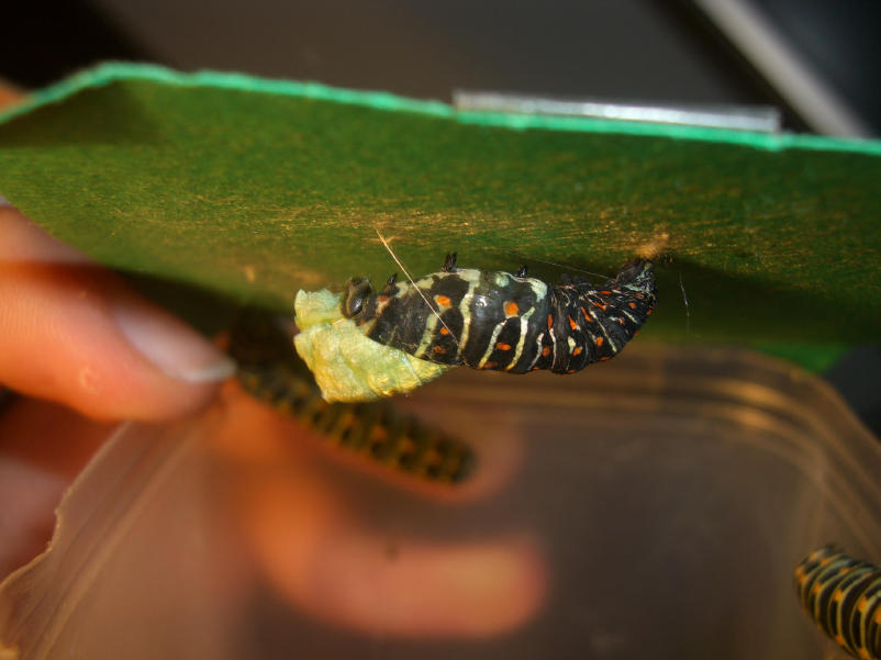
[[[21,658],[846,657],[792,570],[827,542],[881,562],[881,443],[821,380],[637,344],[570,377],[455,370],[401,405],[476,447],[472,480],[377,478],[241,393],[121,428],[3,585],[0,640]],[[513,548],[509,573],[427,574],[450,548]],[[517,588],[492,592],[499,574]],[[425,589],[389,586],[404,579]]]

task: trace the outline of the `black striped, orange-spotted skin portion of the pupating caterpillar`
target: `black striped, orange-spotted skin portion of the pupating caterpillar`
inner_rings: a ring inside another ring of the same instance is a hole
[[[442,365],[526,373],[573,373],[615,357],[657,304],[650,261],[635,259],[599,287],[566,278],[550,286],[515,273],[456,268],[415,282],[389,278],[377,292],[353,278],[343,315],[369,338]]]

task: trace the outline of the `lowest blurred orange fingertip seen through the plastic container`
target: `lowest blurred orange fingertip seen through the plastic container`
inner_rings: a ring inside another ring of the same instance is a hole
[[[545,560],[535,544],[516,535],[480,542],[391,542],[334,530],[327,521],[306,527],[286,538],[276,526],[253,539],[263,568],[283,597],[347,629],[487,639],[526,625],[545,602]]]

